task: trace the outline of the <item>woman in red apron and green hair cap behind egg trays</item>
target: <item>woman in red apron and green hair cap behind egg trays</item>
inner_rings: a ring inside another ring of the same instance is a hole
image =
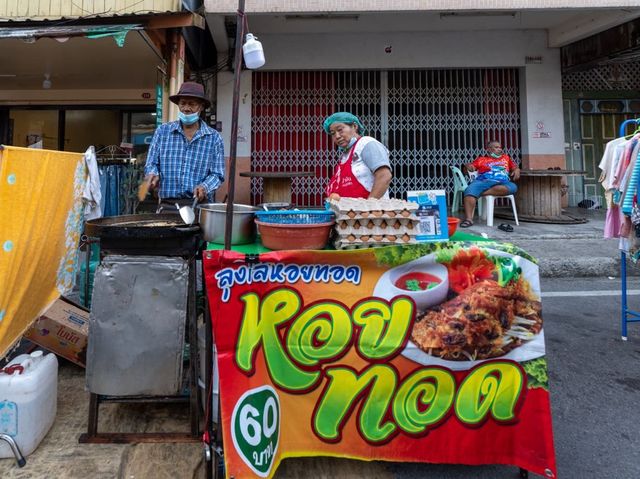
[[[334,113],[324,121],[323,128],[342,152],[327,196],[388,198],[393,175],[387,148],[375,138],[362,136],[364,127],[351,113]]]

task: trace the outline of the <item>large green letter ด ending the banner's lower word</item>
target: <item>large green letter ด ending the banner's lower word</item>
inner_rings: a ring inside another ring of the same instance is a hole
[[[524,379],[514,363],[491,362],[473,370],[462,382],[455,411],[467,424],[482,422],[491,412],[498,421],[515,418],[515,407]]]

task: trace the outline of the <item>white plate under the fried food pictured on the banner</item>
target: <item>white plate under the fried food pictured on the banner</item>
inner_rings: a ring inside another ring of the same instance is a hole
[[[540,298],[540,277],[538,275],[538,266],[535,263],[521,257],[515,256],[509,253],[505,253],[504,251],[494,250],[491,248],[482,248],[481,245],[478,245],[479,248],[486,251],[488,255],[492,256],[504,256],[511,257],[516,262],[516,264],[522,270],[522,276],[526,279],[531,285],[531,292],[534,296]],[[420,266],[421,264],[429,264],[435,262],[436,253],[431,253],[422,258],[415,259],[408,263],[404,263],[396,266],[396,268],[407,268],[408,266]],[[393,299],[392,289],[388,286],[391,284],[389,280],[389,275],[394,268],[386,271],[380,279],[376,283],[375,288],[373,289],[373,296],[383,298],[386,300]],[[410,269],[410,268],[407,268]],[[530,341],[525,341],[521,346],[518,346],[515,349],[512,349],[504,356],[498,356],[497,358],[489,358],[489,359],[479,359],[476,361],[450,361],[447,359],[441,359],[436,356],[432,356],[430,354],[425,353],[420,348],[418,348],[411,340],[407,342],[407,346],[401,353],[407,359],[410,359],[418,364],[422,364],[423,366],[443,366],[448,369],[454,371],[461,371],[470,369],[477,364],[483,363],[485,361],[489,361],[492,359],[510,359],[512,361],[523,362],[529,361],[531,359],[539,358],[545,355],[545,347],[544,347],[544,331],[540,331],[535,337]]]

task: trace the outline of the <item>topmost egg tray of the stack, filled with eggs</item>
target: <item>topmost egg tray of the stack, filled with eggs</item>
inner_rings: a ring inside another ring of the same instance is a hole
[[[329,207],[336,214],[338,220],[356,220],[370,218],[375,220],[389,218],[406,218],[417,220],[415,212],[418,204],[398,199],[364,199],[340,198],[329,200]]]

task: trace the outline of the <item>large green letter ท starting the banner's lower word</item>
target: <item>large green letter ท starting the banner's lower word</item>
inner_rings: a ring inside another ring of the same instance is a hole
[[[355,408],[359,395],[369,388],[360,409],[358,425],[363,438],[369,442],[381,442],[389,437],[397,426],[385,421],[398,378],[395,370],[383,364],[371,366],[360,375],[347,368],[331,368],[326,371],[327,387],[318,401],[313,419],[316,434],[325,441],[340,439],[347,414]]]

